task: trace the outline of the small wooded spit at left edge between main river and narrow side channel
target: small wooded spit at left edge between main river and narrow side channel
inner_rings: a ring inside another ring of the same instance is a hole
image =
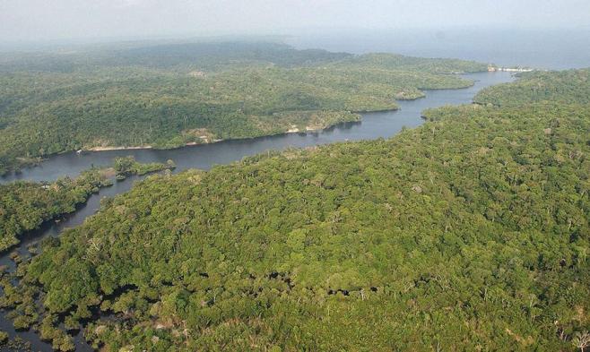
[[[17,181],[0,185],[0,252],[19,243],[18,236],[48,219],[73,212],[101,186],[109,185],[103,169],[91,169],[75,179],[53,184]]]

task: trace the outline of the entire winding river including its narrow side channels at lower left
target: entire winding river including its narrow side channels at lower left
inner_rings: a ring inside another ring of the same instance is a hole
[[[482,88],[502,82],[511,82],[510,73],[470,73],[464,78],[475,81],[473,87],[461,90],[427,90],[426,98],[400,101],[400,109],[390,112],[364,114],[362,121],[357,123],[338,124],[323,131],[313,133],[287,133],[269,137],[224,141],[179,148],[176,150],[109,150],[92,151],[77,154],[68,152],[59,154],[42,162],[38,167],[25,168],[18,174],[0,178],[0,183],[14,180],[52,181],[61,176],[77,176],[82,170],[91,166],[108,165],[112,159],[119,156],[133,155],[141,162],[166,162],[174,160],[177,165],[175,172],[187,168],[209,169],[214,165],[229,164],[249,155],[266,150],[284,150],[291,147],[308,147],[313,145],[370,140],[380,137],[391,137],[404,126],[416,127],[424,122],[421,111],[429,107],[443,105],[457,105],[471,103],[473,96]],[[139,177],[129,177],[125,181],[103,188],[100,193],[91,195],[88,202],[79,207],[73,214],[66,216],[59,222],[50,221],[38,230],[31,231],[22,237],[22,242],[13,251],[22,258],[30,257],[28,248],[37,245],[39,240],[47,236],[58,236],[65,228],[73,228],[82,223],[99,209],[100,199],[112,197],[118,193],[128,191]],[[14,263],[8,253],[0,255],[0,265],[14,270]],[[13,324],[5,318],[6,312],[0,314],[0,330],[7,331],[11,337],[18,336],[29,341],[35,351],[51,351],[51,345],[41,341],[34,331],[14,331]],[[76,350],[91,350],[78,333],[75,337]]]

